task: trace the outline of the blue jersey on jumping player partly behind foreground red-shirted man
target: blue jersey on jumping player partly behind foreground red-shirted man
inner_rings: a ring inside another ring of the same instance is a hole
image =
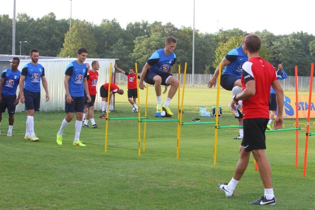
[[[239,46],[225,56],[225,58],[231,63],[224,67],[222,74],[236,76],[241,79],[242,66],[248,61],[247,55],[243,52],[243,47]]]

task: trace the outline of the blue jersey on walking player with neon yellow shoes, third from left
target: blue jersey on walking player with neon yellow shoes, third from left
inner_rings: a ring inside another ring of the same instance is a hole
[[[64,74],[70,76],[68,84],[71,96],[84,96],[83,79],[87,77],[87,72],[87,65],[85,63],[80,65],[77,60],[67,65]]]

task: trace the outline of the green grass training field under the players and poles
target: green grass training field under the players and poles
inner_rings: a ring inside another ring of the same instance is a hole
[[[142,112],[145,94],[140,91]],[[199,106],[211,109],[216,105],[216,95],[216,90],[185,89],[183,122],[201,118],[198,116]],[[230,92],[221,90],[220,95],[223,108],[220,125],[237,125],[226,106]],[[116,96],[115,110],[110,113],[110,118],[137,117],[131,113],[132,107],[126,97]],[[162,95],[162,101],[165,97]],[[149,119],[156,119],[152,87],[148,98]],[[177,95],[170,106],[174,113],[176,106]],[[98,115],[100,112],[96,112]],[[253,159],[233,197],[226,198],[218,188],[219,182],[228,182],[232,178],[241,143],[233,140],[238,129],[219,129],[217,164],[214,165],[214,124],[183,125],[177,161],[177,122],[148,122],[146,150],[138,156],[137,120],[109,120],[105,153],[105,120],[99,118],[95,119],[98,128],[82,128],[80,140],[87,147],[72,146],[74,121],[65,128],[63,145],[58,146],[56,133],[64,117],[63,112],[36,113],[35,133],[40,141],[30,142],[23,140],[26,112],[15,115],[12,137],[5,135],[7,113],[3,114],[0,209],[257,209],[249,202],[258,199],[264,191],[259,173],[254,171]],[[214,120],[201,118],[201,121]],[[293,127],[294,122],[285,119],[285,128]],[[300,122],[305,123],[306,119],[300,119]],[[141,123],[142,131],[143,125]],[[311,126],[310,132],[314,130]],[[305,132],[305,129],[299,131],[298,168],[295,168],[295,131],[266,133],[266,152],[273,170],[277,204],[259,209],[315,209],[315,137],[309,139],[307,174],[303,177]]]

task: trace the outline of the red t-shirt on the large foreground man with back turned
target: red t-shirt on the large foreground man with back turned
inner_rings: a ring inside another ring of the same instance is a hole
[[[255,80],[255,94],[243,100],[243,119],[266,118],[269,119],[270,86],[277,80],[274,67],[263,58],[251,58],[242,67],[242,88],[246,83]]]

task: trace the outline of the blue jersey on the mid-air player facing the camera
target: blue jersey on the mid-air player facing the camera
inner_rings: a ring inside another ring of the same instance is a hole
[[[166,73],[170,66],[174,65],[175,61],[175,53],[170,53],[166,56],[164,54],[164,48],[159,49],[148,59],[148,64],[151,65],[149,69],[158,73]]]

